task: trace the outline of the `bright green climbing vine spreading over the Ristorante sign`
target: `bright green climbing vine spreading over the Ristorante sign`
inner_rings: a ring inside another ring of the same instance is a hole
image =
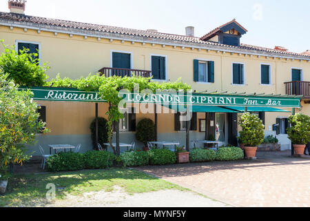
[[[121,97],[118,97],[118,91],[121,89],[127,89],[134,91],[138,88],[138,92],[141,90],[149,89],[153,93],[156,90],[184,90],[185,92],[190,89],[188,84],[184,84],[180,79],[176,82],[164,82],[158,83],[157,81],[150,81],[150,77],[105,77],[96,75],[88,75],[87,77],[81,77],[80,79],[70,79],[68,77],[61,78],[59,75],[55,79],[45,83],[45,86],[64,87],[64,88],[77,88],[85,91],[99,91],[101,99],[105,99],[110,108],[107,111],[107,131],[108,140],[112,144],[113,134],[113,122],[118,122],[124,116],[118,111],[118,104],[121,102]],[[112,146],[112,145],[111,145]],[[113,146],[112,146],[113,148]],[[114,153],[116,153],[113,148]]]

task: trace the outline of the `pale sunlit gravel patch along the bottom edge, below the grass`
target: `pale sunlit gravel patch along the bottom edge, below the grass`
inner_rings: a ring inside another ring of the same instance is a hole
[[[150,193],[128,194],[119,186],[111,192],[98,191],[83,195],[68,195],[64,200],[54,200],[47,206],[69,207],[222,207],[228,206],[205,198],[192,191],[164,190]]]

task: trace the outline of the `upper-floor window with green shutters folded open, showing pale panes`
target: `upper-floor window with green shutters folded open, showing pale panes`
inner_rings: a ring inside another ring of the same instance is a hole
[[[194,81],[214,83],[214,61],[194,60]]]

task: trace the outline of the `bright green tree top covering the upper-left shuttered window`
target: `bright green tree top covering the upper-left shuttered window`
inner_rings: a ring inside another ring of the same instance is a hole
[[[45,71],[50,67],[39,66],[40,59],[38,54],[30,54],[29,49],[24,48],[17,52],[14,46],[6,46],[1,40],[4,51],[0,56],[0,69],[2,73],[8,74],[8,79],[12,79],[15,84],[20,86],[43,86],[45,79]]]

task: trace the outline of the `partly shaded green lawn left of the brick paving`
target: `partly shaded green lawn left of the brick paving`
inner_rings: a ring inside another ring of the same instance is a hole
[[[47,184],[56,186],[55,198],[81,195],[90,191],[112,191],[121,186],[127,193],[145,193],[163,189],[187,189],[134,169],[88,170],[37,175],[13,175],[6,195],[0,195],[0,206],[44,206]]]

